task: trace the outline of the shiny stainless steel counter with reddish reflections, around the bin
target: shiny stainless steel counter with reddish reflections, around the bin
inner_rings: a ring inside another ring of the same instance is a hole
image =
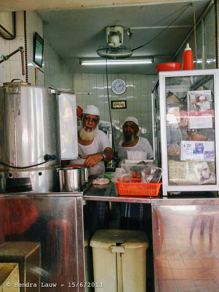
[[[212,193],[129,197],[119,196],[114,183],[89,183],[83,192],[1,194],[0,256],[4,244],[19,249],[39,244],[31,268],[41,270],[32,283],[57,283],[57,292],[84,292],[84,287],[69,287],[85,282],[83,201],[151,205],[155,292],[219,290],[219,198]],[[26,291],[48,291],[37,285]]]

